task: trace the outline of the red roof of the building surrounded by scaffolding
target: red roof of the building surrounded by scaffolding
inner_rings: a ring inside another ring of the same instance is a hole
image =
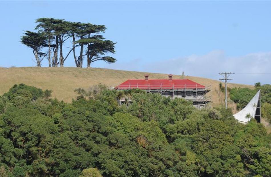
[[[173,80],[168,80],[168,79],[149,79],[149,80],[144,80],[144,79],[129,79],[119,86],[116,87],[119,89],[133,89],[133,88],[138,88],[138,89],[193,89],[193,88],[198,88],[198,89],[203,89],[205,86],[198,84],[194,81],[191,81],[189,79],[173,79]]]

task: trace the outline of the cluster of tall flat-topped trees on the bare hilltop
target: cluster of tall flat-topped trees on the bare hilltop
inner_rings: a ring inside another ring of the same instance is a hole
[[[39,18],[35,21],[37,32],[26,31],[22,36],[21,43],[33,49],[36,64],[41,66],[43,58],[48,59],[49,67],[64,66],[68,56],[73,53],[76,67],[83,67],[83,59],[87,60],[87,67],[98,60],[107,63],[114,63],[116,59],[107,56],[108,53],[115,53],[115,42],[105,40],[100,34],[105,32],[104,25],[92,23],[69,22],[64,19]],[[69,40],[69,50],[64,53],[64,44]],[[45,47],[45,48],[42,48]],[[80,47],[79,54],[76,48]],[[44,52],[41,52],[43,49]],[[45,52],[46,51],[46,52]],[[43,57],[42,59],[40,59]]]

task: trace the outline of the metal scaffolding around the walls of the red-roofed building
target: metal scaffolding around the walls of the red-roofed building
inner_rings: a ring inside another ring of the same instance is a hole
[[[121,85],[114,87],[116,90],[130,90],[140,89],[146,93],[159,93],[171,99],[182,98],[193,102],[193,106],[201,109],[206,107],[211,102],[211,85],[207,87],[200,87],[198,85]],[[131,102],[132,100],[128,100]],[[127,102],[127,98],[120,98],[120,104]]]

